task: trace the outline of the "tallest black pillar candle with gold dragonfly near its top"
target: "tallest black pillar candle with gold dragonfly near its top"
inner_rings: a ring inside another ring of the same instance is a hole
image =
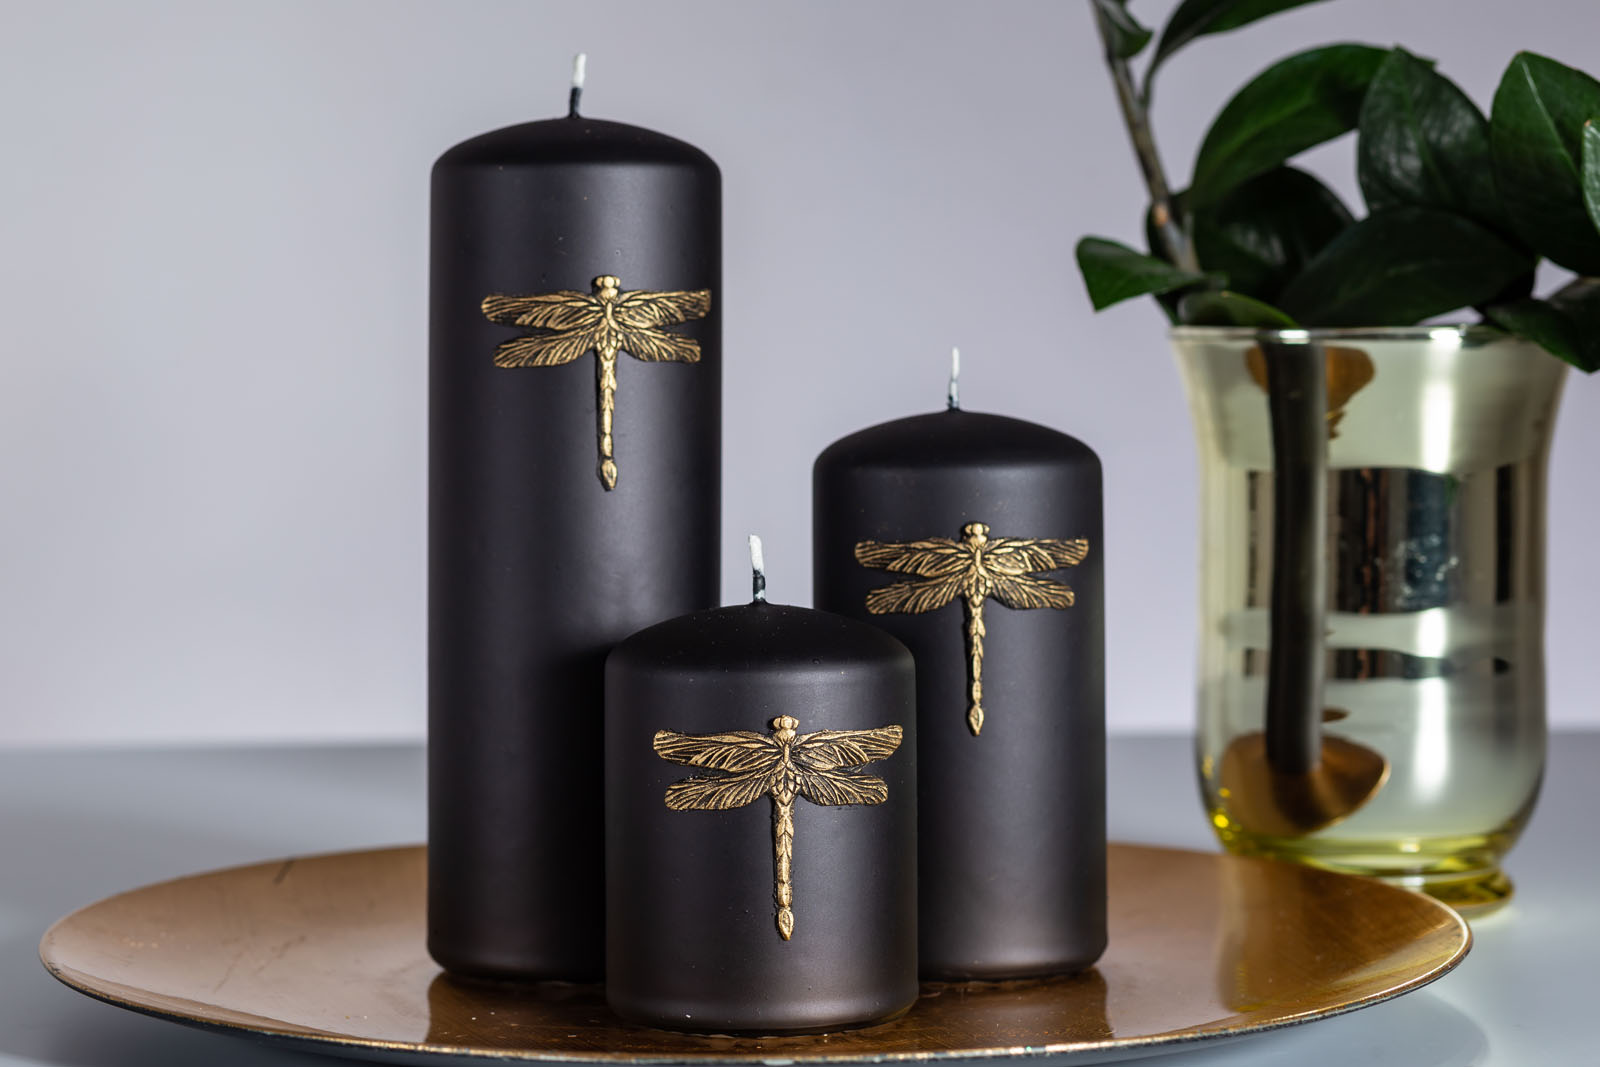
[[[602,976],[605,656],[718,603],[720,198],[704,152],[576,101],[434,166],[427,939],[451,971]]]

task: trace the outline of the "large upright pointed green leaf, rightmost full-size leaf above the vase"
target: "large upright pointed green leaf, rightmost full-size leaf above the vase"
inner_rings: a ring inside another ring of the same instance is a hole
[[[1494,186],[1515,234],[1539,254],[1600,275],[1600,232],[1584,206],[1584,123],[1600,82],[1533,53],[1506,69],[1490,115]]]

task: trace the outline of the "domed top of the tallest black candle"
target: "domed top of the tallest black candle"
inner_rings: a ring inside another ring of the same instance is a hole
[[[549,163],[683,163],[717,170],[688,141],[624,122],[562,115],[490,130],[445,150],[434,166],[539,166]]]

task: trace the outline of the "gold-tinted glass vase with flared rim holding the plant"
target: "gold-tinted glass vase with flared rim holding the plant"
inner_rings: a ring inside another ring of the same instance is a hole
[[[1198,435],[1198,758],[1237,853],[1458,907],[1544,769],[1565,366],[1478,328],[1173,330]]]

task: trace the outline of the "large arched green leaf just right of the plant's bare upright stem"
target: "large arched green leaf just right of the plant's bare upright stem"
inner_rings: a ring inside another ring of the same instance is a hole
[[[1258,74],[1200,144],[1189,186],[1194,203],[1214,203],[1256,174],[1354,130],[1366,86],[1387,58],[1384,48],[1328,45]]]

